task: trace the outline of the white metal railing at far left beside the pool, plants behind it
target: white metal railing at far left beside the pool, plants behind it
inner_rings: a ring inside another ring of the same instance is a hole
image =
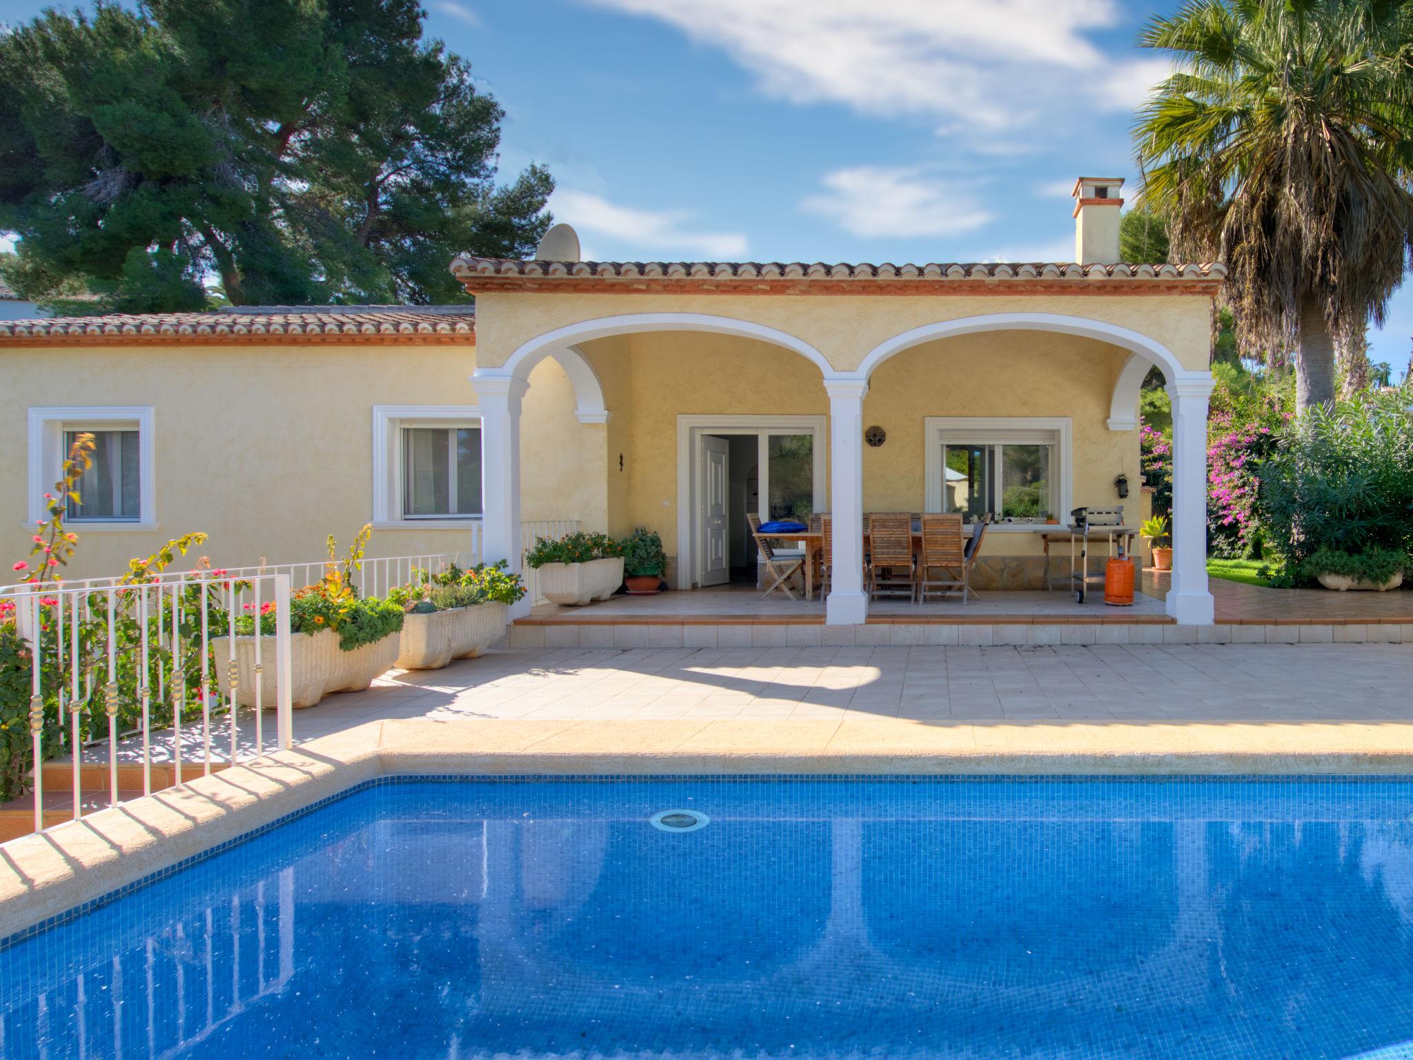
[[[71,758],[72,817],[83,815],[83,767],[107,766],[107,806],[123,801],[123,766],[140,763],[143,794],[153,791],[155,762],[175,786],[196,755],[203,775],[225,753],[240,760],[288,749],[292,741],[288,572],[194,571],[143,584],[23,585],[0,589],[14,608],[16,633],[30,649],[30,707],[34,830],[45,828],[44,763]],[[253,653],[252,732],[240,729],[242,677],[237,625],[250,616]],[[273,632],[264,632],[264,616]],[[216,657],[216,640],[225,659]],[[271,654],[273,653],[273,654]],[[274,663],[274,704],[264,702],[264,664]],[[215,680],[226,666],[226,687]],[[276,708],[273,748],[264,708]],[[106,726],[103,718],[106,715]],[[102,746],[106,743],[106,753]],[[85,749],[99,753],[86,759]],[[192,763],[196,765],[196,763]],[[219,762],[218,762],[219,765]],[[136,789],[134,789],[136,790]],[[57,800],[52,800],[57,804]]]

